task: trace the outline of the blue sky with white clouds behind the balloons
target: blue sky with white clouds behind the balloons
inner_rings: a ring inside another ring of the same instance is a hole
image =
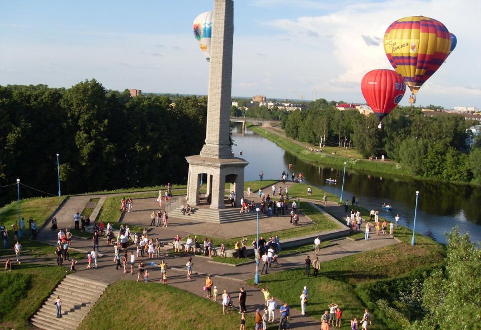
[[[213,0],[0,0],[0,85],[206,94],[192,21]],[[363,75],[392,68],[382,39],[398,18],[440,20],[456,49],[417,105],[481,108],[478,0],[234,0],[232,95],[365,102]],[[408,104],[406,92],[401,105]]]

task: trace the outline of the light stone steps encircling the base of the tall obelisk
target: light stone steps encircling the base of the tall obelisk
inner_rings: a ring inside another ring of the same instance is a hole
[[[172,209],[169,212],[169,216],[196,220],[201,222],[213,222],[213,223],[228,223],[245,220],[257,219],[256,211],[252,210],[249,213],[239,213],[239,207],[227,207],[221,209],[212,209],[208,207],[194,207],[190,215],[183,215],[180,211],[180,207]],[[265,218],[267,215],[259,213],[259,218]]]

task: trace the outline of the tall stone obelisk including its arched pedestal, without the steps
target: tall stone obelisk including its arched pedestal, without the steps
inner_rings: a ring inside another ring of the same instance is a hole
[[[230,183],[237,204],[244,195],[244,167],[248,162],[234,157],[229,143],[233,18],[232,0],[214,0],[205,144],[199,155],[186,157],[189,163],[187,201],[192,206],[200,202],[203,173],[207,174],[206,199],[210,200],[210,208],[225,207],[225,183]]]

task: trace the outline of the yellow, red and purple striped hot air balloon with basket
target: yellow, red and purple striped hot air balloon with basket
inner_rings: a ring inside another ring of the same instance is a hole
[[[409,16],[396,20],[384,34],[384,50],[392,67],[411,89],[410,103],[422,84],[436,72],[451,48],[451,37],[440,21]]]

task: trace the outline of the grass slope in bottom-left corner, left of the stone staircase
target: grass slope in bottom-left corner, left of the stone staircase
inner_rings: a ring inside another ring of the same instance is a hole
[[[0,328],[30,329],[29,317],[62,280],[67,267],[14,264],[13,269],[0,272]]]

